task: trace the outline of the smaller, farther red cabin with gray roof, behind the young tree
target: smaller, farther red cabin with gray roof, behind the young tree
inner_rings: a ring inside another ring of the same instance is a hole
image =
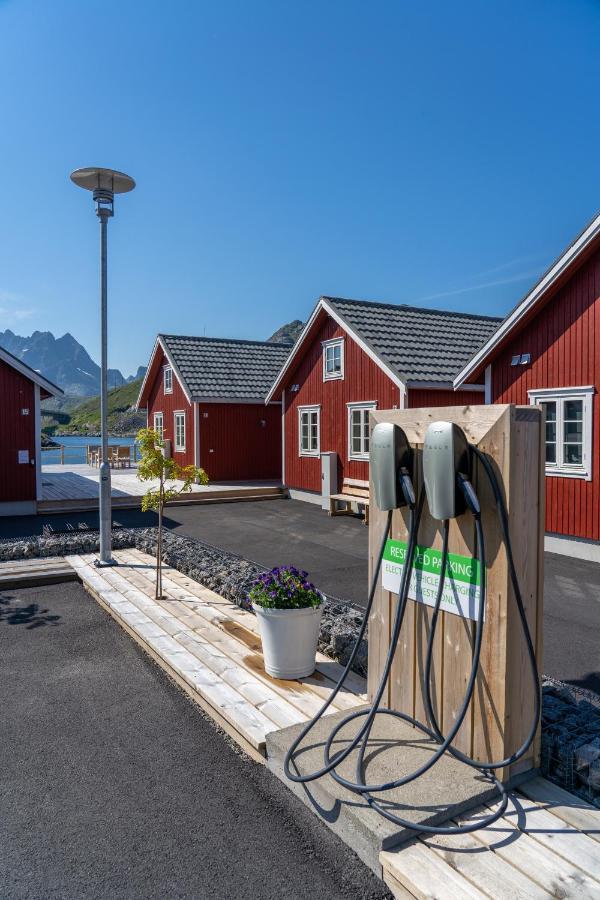
[[[181,465],[211,481],[281,477],[281,405],[264,397],[290,346],[159,334],[138,398]]]

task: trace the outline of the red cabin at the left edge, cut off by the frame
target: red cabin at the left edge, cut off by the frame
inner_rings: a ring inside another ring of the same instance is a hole
[[[0,348],[0,515],[35,515],[42,499],[40,402],[62,390]]]

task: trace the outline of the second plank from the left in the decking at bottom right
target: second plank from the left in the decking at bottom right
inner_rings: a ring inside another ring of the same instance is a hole
[[[551,900],[552,894],[471,834],[436,835],[423,844],[493,900]]]

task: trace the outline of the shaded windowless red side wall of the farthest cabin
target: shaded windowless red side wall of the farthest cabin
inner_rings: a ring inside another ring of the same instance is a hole
[[[199,413],[200,465],[211,481],[281,478],[278,403],[201,403]]]

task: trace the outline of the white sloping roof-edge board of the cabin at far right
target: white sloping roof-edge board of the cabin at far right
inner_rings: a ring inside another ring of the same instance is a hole
[[[521,302],[513,309],[511,313],[504,319],[500,327],[494,332],[489,340],[483,345],[475,356],[473,356],[454,379],[454,387],[457,388],[469,378],[476,369],[485,361],[491,351],[512,331],[512,329],[523,319],[529,310],[544,296],[546,291],[552,288],[561,278],[569,266],[577,260],[577,258],[589,247],[589,245],[600,236],[600,214],[590,222],[587,228],[576,238],[573,243],[567,247],[564,253],[556,260],[556,262],[548,269],[545,275],[531,289],[531,291],[521,300]]]

